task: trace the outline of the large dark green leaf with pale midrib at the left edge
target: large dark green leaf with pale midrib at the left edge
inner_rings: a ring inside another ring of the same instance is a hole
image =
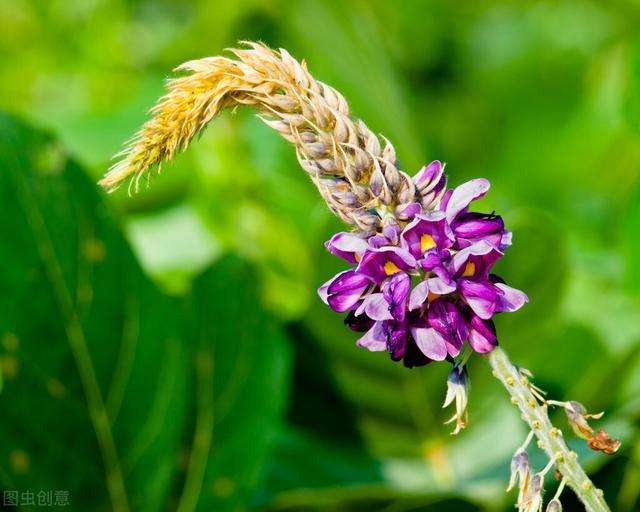
[[[158,510],[186,413],[175,304],[55,141],[6,116],[0,131],[0,286],[12,290],[0,325],[15,340],[3,356],[4,485]]]

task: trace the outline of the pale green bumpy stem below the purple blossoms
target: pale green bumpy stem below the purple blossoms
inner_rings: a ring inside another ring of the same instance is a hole
[[[578,456],[569,450],[562,437],[562,431],[553,426],[547,414],[546,404],[540,404],[531,392],[529,380],[511,363],[501,348],[495,348],[489,354],[489,363],[493,375],[502,382],[511,395],[511,402],[520,409],[522,419],[529,424],[542,448],[550,460],[556,461],[556,467],[566,484],[573,489],[588,512],[610,512],[604,500],[603,492],[597,489],[589,479]]]

